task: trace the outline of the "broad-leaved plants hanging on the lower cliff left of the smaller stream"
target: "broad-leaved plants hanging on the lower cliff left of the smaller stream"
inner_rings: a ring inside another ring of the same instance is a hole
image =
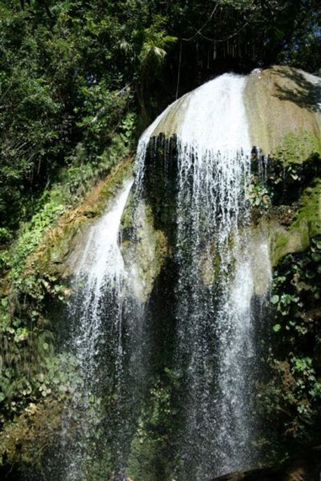
[[[59,284],[54,288],[57,295],[64,289]],[[40,397],[50,394],[61,399],[75,389],[75,360],[54,356],[50,323],[39,310],[40,300],[36,300],[38,304],[30,302],[29,309],[33,310],[26,312],[24,320],[19,314],[8,313],[8,298],[1,300],[0,424],[14,414],[20,415]]]

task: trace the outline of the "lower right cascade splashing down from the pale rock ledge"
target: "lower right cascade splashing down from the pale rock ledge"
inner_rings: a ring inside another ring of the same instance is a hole
[[[236,240],[232,254],[234,273],[229,290],[223,294],[217,321],[220,394],[216,443],[220,448],[221,472],[251,468],[260,461],[253,445],[258,432],[251,397],[255,394],[253,383],[259,374],[257,339],[263,328],[264,300],[271,283],[269,245],[263,237],[255,250],[248,233],[237,236]],[[258,272],[261,279],[257,278]],[[260,282],[263,292],[259,289]]]

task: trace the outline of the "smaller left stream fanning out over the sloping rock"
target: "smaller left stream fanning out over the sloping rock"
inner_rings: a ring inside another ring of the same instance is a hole
[[[73,279],[68,349],[77,362],[81,389],[75,392],[64,417],[64,481],[91,479],[103,421],[100,397],[108,384],[117,390],[121,382],[126,272],[119,250],[119,226],[132,184],[132,179],[126,181],[105,214],[91,225]]]

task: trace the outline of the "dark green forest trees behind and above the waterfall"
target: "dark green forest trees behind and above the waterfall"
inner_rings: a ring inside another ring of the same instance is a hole
[[[231,68],[315,70],[319,20],[316,0],[1,1],[3,227],[33,214],[78,144],[95,165],[128,111],[146,122],[177,89]]]

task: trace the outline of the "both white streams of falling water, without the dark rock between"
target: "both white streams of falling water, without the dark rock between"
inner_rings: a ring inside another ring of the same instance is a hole
[[[134,197],[139,204],[144,197],[150,140],[156,129],[163,132],[167,116],[181,106],[174,132],[177,174],[171,251],[177,272],[171,298],[174,369],[185,385],[173,473],[179,481],[207,481],[257,461],[257,422],[251,398],[256,339],[271,266],[267,238],[254,239],[249,228],[246,184],[251,174],[251,141],[243,100],[245,84],[246,77],[232,74],[204,84],[184,96],[183,102],[167,107],[137,147]],[[170,162],[170,149],[166,155]],[[89,479],[86,466],[91,462],[91,439],[101,422],[95,400],[109,382],[108,369],[116,372],[115,389],[124,374],[122,312],[130,271],[126,273],[119,250],[119,224],[131,185],[132,181],[124,184],[113,206],[91,227],[75,275],[70,348],[79,363],[83,387],[66,414],[65,429],[76,426],[77,442],[66,450],[64,481]],[[133,327],[142,344],[147,337],[144,326],[149,324],[145,319]],[[106,349],[115,353],[113,368],[112,361],[103,356]],[[141,356],[140,369],[142,365],[147,369],[149,362],[148,356],[143,360]],[[130,399],[130,385],[128,391]],[[117,426],[124,429],[121,423]]]

